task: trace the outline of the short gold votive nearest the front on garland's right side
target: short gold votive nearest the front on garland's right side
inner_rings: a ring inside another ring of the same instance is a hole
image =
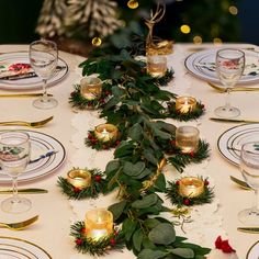
[[[184,177],[179,180],[179,193],[181,196],[194,198],[204,191],[204,181],[196,177]]]

